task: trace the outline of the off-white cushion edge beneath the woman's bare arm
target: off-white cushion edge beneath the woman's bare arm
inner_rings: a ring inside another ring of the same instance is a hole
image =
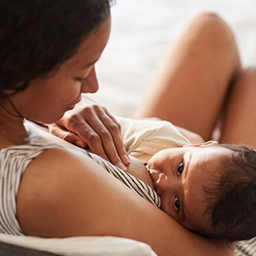
[[[39,238],[0,234],[0,241],[65,256],[157,256],[143,242],[113,236]]]

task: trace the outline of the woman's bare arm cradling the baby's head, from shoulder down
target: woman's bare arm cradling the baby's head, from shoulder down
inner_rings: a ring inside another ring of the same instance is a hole
[[[224,242],[185,230],[71,149],[49,149],[27,167],[17,215],[31,236],[119,236],[148,243],[158,255],[232,255]]]

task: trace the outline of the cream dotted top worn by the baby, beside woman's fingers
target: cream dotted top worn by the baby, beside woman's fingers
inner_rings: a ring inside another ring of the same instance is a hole
[[[127,153],[144,163],[161,149],[191,144],[170,122],[160,119],[115,118],[122,127],[121,135]]]

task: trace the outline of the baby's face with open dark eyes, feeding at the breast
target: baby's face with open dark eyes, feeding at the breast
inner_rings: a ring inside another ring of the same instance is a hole
[[[219,146],[164,149],[148,160],[161,209],[189,230],[207,232],[211,219],[203,187],[218,178],[218,165],[232,151]]]

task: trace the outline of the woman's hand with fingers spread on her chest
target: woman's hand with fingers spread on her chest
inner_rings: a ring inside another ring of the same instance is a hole
[[[107,108],[84,98],[73,110],[67,111],[49,132],[126,170],[130,165],[121,139],[121,127]]]

